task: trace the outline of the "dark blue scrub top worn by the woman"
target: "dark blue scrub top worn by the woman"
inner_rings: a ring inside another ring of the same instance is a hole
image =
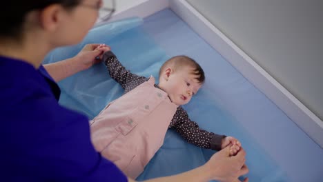
[[[127,181],[95,151],[88,118],[58,104],[48,72],[0,57],[0,181]]]

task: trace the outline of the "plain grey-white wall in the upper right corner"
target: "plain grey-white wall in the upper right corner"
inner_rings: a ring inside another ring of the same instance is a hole
[[[323,1],[187,1],[323,120]]]

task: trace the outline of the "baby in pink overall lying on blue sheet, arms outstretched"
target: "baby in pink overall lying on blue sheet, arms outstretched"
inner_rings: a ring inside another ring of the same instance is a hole
[[[201,148],[221,150],[230,145],[230,155],[239,151],[237,139],[202,130],[180,106],[188,103],[204,83],[204,71],[193,59],[177,56],[166,61],[160,68],[158,85],[154,77],[126,70],[111,51],[102,59],[125,94],[90,121],[92,143],[125,174],[135,179],[143,172],[164,143],[168,128]]]

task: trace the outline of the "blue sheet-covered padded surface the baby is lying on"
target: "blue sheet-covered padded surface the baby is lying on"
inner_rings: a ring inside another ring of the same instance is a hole
[[[193,57],[204,68],[206,83],[184,108],[201,128],[235,136],[242,142],[250,181],[322,179],[322,149],[171,10],[153,14],[144,21],[133,18],[99,26],[79,45],[48,54],[44,63],[72,57],[86,43],[110,45],[126,68],[146,77],[157,78],[161,63],[169,57]],[[89,119],[123,92],[103,64],[61,81],[59,86],[59,103],[83,112]],[[164,145],[138,179],[196,168],[211,154],[213,151],[186,143],[168,130]]]

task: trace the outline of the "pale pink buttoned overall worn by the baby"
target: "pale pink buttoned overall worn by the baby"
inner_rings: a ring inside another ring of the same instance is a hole
[[[150,79],[109,103],[90,121],[92,143],[127,176],[137,178],[164,143],[178,105]]]

